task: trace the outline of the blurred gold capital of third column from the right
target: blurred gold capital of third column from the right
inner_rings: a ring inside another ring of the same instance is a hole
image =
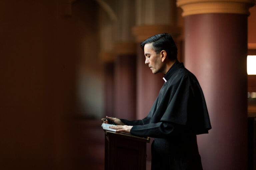
[[[136,54],[136,43],[135,42],[117,42],[114,44],[115,54],[126,55]]]

